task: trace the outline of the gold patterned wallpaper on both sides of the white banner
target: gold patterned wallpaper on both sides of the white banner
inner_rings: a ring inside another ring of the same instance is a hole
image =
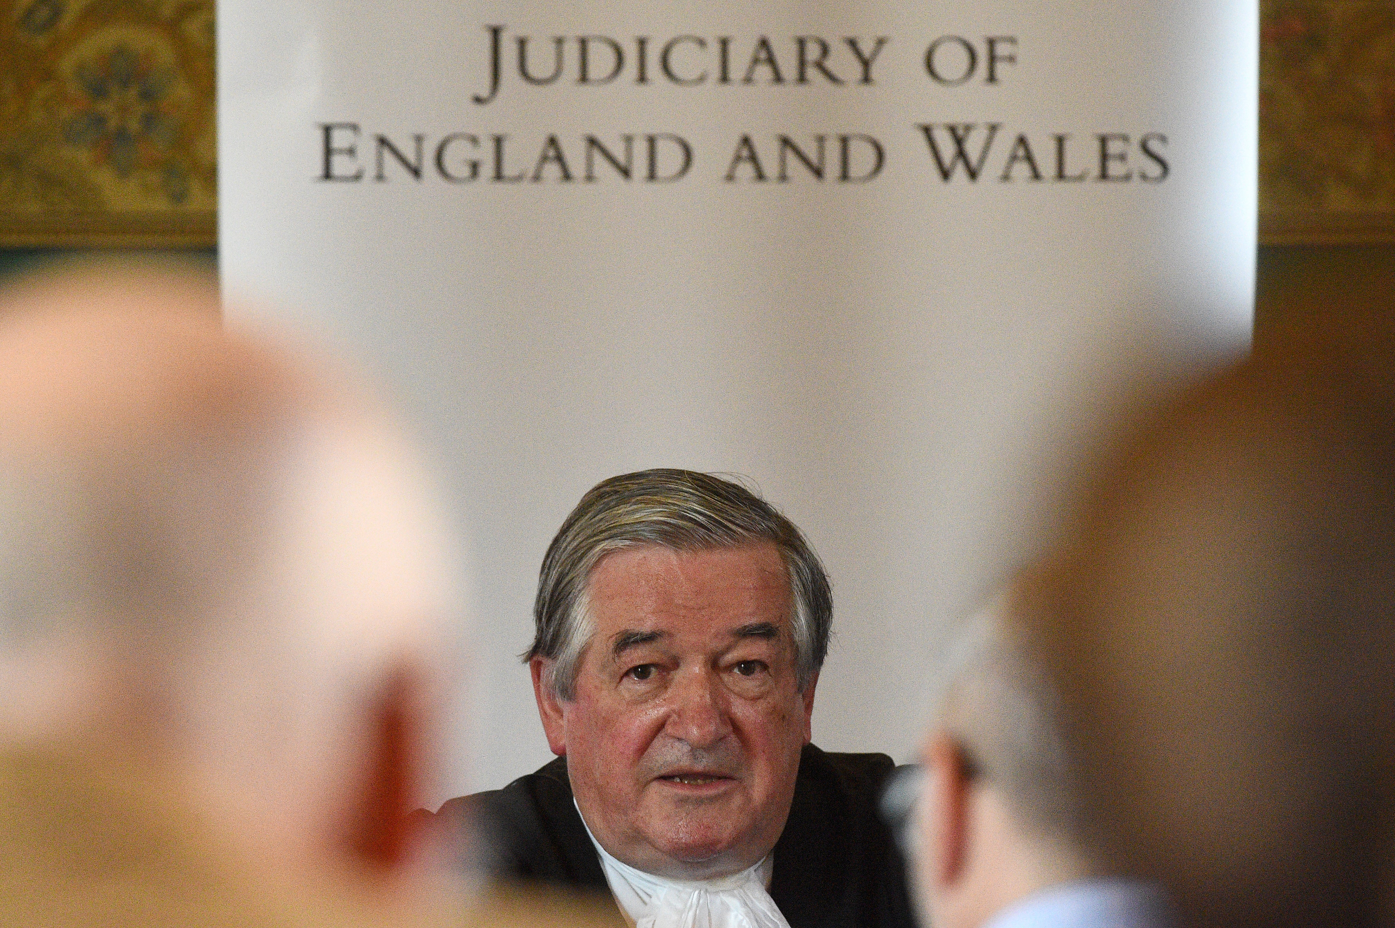
[[[0,0],[0,245],[216,237],[213,0]],[[1261,0],[1261,240],[1395,242],[1395,0]]]

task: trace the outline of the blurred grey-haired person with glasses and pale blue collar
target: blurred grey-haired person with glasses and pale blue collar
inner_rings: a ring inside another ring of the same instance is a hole
[[[915,883],[933,928],[1163,928],[1155,883],[1110,875],[1081,830],[1059,695],[1024,624],[1024,574],[960,628],[922,750]],[[914,822],[914,819],[912,819]]]

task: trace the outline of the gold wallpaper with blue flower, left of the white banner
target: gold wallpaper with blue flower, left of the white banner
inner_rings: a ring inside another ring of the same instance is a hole
[[[0,244],[212,244],[213,0],[0,13]]]

